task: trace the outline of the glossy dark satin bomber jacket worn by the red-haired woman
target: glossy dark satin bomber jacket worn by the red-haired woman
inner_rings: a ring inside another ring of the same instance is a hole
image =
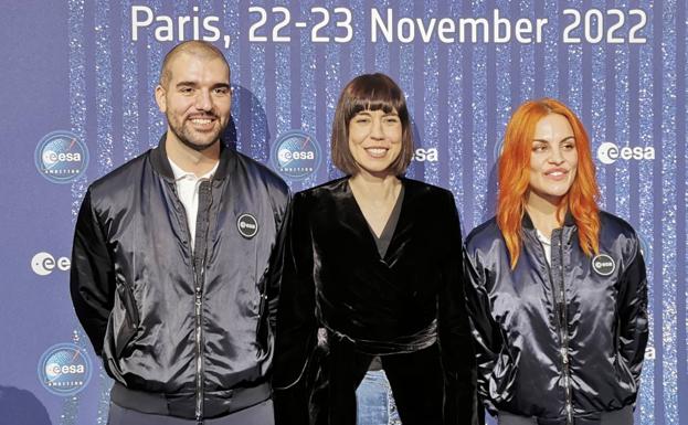
[[[604,212],[600,222],[600,253],[615,263],[608,276],[595,272],[592,258],[582,252],[571,216],[553,233],[551,267],[528,215],[514,270],[495,219],[467,237],[472,285],[466,295],[478,387],[493,413],[565,423],[561,319],[554,301],[560,286],[573,416],[595,423],[600,413],[635,402],[648,332],[645,265],[626,222]]]

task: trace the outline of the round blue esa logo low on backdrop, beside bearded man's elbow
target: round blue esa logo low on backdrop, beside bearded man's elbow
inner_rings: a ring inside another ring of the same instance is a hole
[[[41,355],[39,380],[56,395],[74,395],[91,380],[91,359],[86,350],[73,343],[53,346]]]

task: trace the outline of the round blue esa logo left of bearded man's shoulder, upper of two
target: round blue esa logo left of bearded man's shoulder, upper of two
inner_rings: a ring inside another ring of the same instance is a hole
[[[68,183],[86,171],[88,149],[70,131],[53,131],[35,148],[35,168],[53,183]]]

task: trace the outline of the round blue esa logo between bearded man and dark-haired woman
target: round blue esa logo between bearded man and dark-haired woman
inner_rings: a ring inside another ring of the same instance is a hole
[[[283,177],[301,180],[313,176],[320,167],[320,148],[313,136],[292,130],[277,139],[273,158],[275,169]]]

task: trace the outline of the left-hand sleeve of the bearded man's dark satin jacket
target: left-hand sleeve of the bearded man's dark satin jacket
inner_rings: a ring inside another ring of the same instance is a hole
[[[115,300],[115,275],[103,231],[93,211],[91,191],[86,192],[76,219],[70,290],[76,317],[96,354],[100,355]]]

